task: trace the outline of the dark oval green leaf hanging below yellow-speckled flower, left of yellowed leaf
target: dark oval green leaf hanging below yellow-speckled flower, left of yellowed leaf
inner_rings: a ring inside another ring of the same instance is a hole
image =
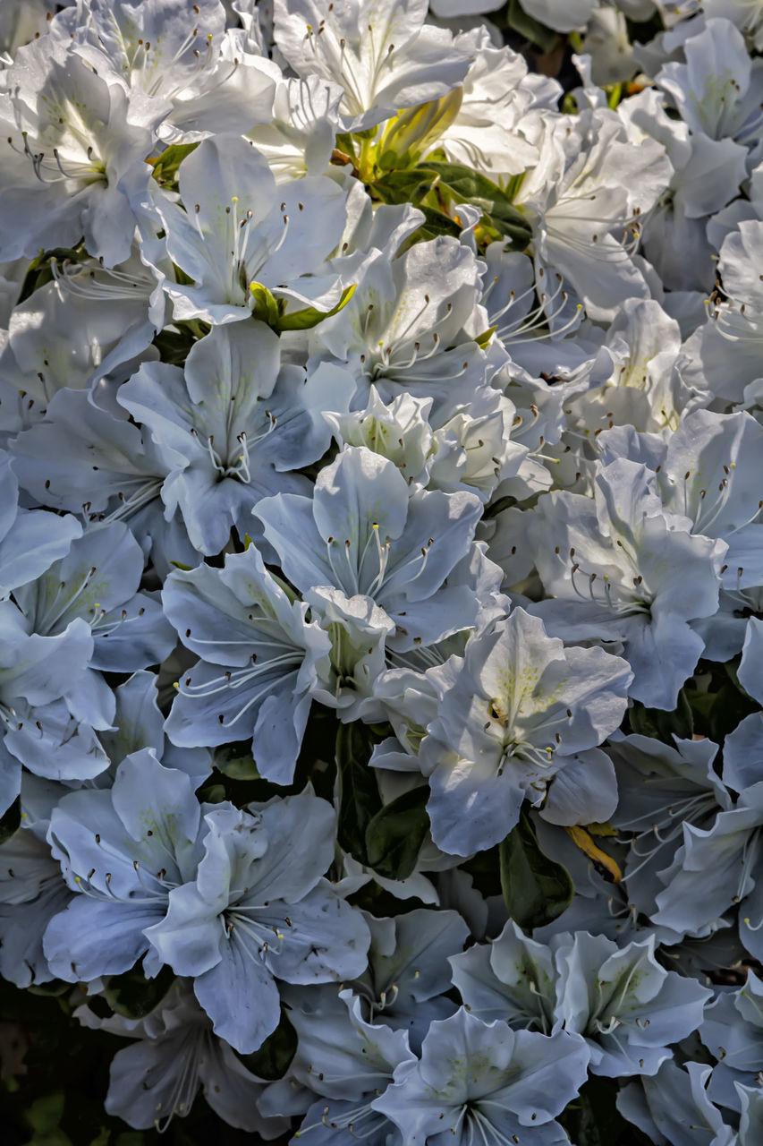
[[[503,897],[520,927],[544,927],[569,906],[575,892],[569,872],[541,851],[525,813],[500,845],[498,856]]]

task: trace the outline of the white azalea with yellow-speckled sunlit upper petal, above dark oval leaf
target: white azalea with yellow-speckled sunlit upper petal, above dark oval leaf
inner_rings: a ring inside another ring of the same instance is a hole
[[[470,855],[500,842],[525,799],[540,803],[569,756],[614,731],[630,675],[600,649],[565,650],[522,609],[474,634],[435,678],[438,716],[418,754],[438,847]]]

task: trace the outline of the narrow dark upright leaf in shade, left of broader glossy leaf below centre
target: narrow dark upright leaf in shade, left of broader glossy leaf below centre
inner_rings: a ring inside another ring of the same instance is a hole
[[[369,768],[373,747],[371,733],[354,721],[337,729],[337,774],[339,814],[337,839],[355,859],[368,864],[365,830],[382,809],[376,772]]]

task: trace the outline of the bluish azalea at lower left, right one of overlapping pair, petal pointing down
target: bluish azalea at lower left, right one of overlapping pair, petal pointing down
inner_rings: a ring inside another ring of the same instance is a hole
[[[331,806],[305,792],[250,807],[206,814],[196,879],[170,893],[166,918],[148,929],[162,960],[194,978],[215,1034],[243,1053],[278,1025],[276,975],[352,978],[369,945],[361,913],[322,878],[333,855]]]

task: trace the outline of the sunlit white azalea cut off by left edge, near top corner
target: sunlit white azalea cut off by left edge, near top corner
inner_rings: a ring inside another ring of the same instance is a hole
[[[113,267],[128,256],[143,163],[165,108],[132,101],[109,68],[95,72],[48,33],[18,49],[0,101],[0,244],[6,259],[73,246]]]

